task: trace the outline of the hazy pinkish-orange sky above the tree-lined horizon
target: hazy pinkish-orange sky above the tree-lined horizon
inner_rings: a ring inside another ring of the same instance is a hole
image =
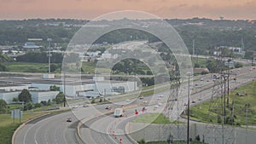
[[[256,0],[0,0],[0,20],[93,20],[118,10],[138,10],[163,19],[256,20]]]

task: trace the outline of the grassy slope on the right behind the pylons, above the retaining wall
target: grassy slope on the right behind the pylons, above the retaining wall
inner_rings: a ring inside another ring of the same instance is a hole
[[[237,93],[243,92],[244,96],[237,96]],[[202,104],[192,107],[190,116],[192,119],[201,122],[221,124],[222,102],[221,98],[206,101]],[[226,100],[227,101],[227,100]],[[234,104],[234,123],[236,125],[256,125],[256,81],[241,86],[230,93],[230,107],[226,105],[226,118],[232,117],[232,101]],[[246,104],[248,104],[246,120]]]

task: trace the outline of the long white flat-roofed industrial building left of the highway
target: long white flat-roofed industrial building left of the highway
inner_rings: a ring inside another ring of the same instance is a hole
[[[68,97],[100,95],[117,95],[137,89],[137,82],[105,80],[104,77],[94,79],[68,78],[63,84],[61,78],[2,77],[0,78],[0,99],[12,103],[22,89],[32,94],[32,102],[48,101],[55,98],[59,91],[49,91],[50,86],[57,86]]]

